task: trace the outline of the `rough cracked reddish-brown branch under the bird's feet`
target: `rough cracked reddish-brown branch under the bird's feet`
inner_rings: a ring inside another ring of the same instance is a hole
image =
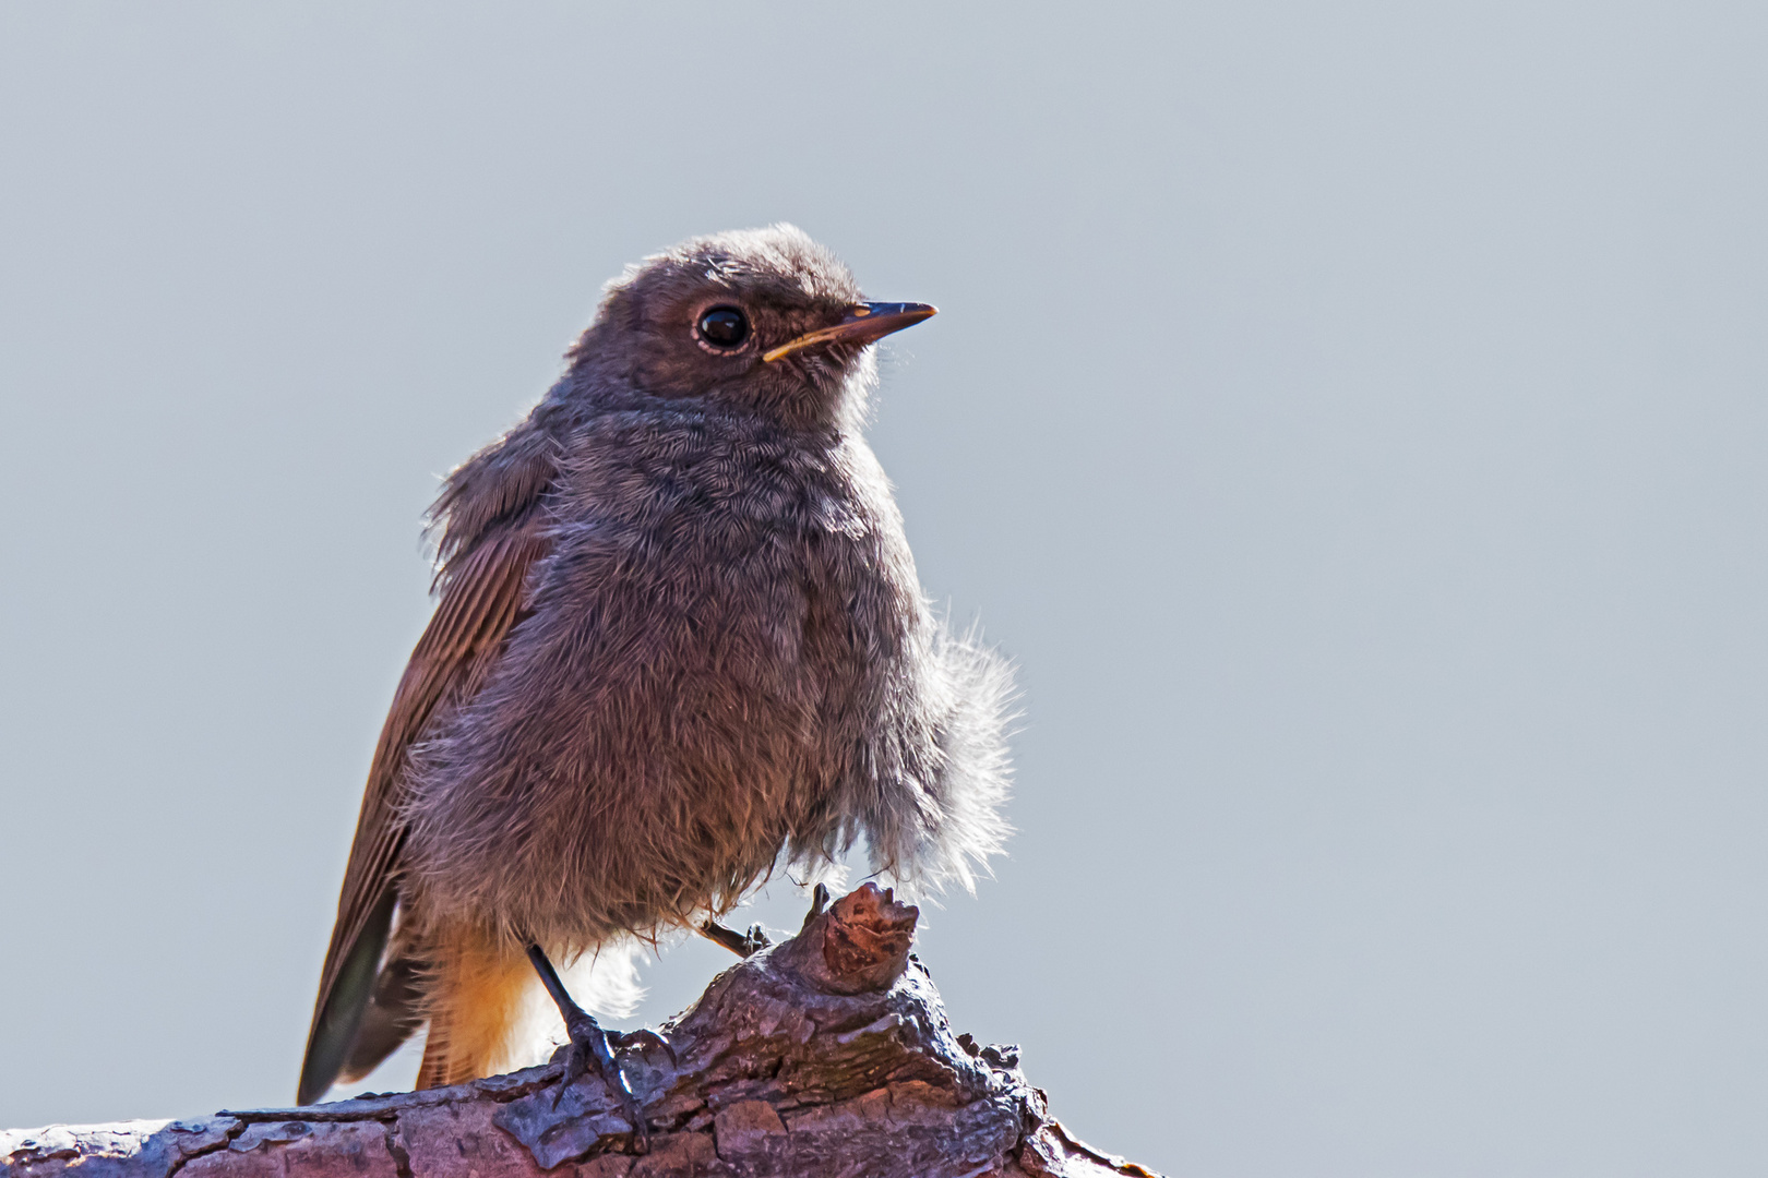
[[[635,1141],[594,1076],[545,1067],[454,1088],[200,1120],[0,1132],[5,1178],[1066,1178],[1149,1174],[1075,1141],[1013,1047],[953,1037],[909,952],[918,911],[865,885],[727,970],[626,1056]]]

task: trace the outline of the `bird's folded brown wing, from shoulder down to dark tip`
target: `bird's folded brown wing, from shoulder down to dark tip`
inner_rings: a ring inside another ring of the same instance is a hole
[[[400,788],[407,752],[438,708],[477,692],[504,638],[523,616],[529,570],[546,553],[541,516],[539,510],[527,510],[516,519],[506,517],[447,562],[435,616],[400,678],[368,770],[355,842],[338,897],[338,924],[320,971],[320,994],[301,1067],[301,1104],[325,1095],[352,1056],[382,968],[398,902],[394,881],[405,841]]]

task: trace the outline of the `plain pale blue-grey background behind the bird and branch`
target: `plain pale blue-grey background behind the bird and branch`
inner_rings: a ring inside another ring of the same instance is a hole
[[[0,7],[0,1123],[292,1099],[437,475],[622,263],[789,219],[942,307],[872,436],[1025,689],[958,1030],[1176,1174],[1764,1173],[1764,62],[1759,2]]]

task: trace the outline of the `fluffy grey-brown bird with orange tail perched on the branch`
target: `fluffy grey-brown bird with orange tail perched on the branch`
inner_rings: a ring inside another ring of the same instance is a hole
[[[424,1026],[419,1088],[493,1074],[539,984],[566,1081],[601,1070],[633,1116],[633,1037],[553,963],[728,945],[771,872],[859,841],[905,887],[974,890],[1008,835],[1011,668],[930,604],[863,436],[877,341],[934,314],[866,300],[790,224],[691,238],[612,279],[552,389],[446,477],[299,1104]]]

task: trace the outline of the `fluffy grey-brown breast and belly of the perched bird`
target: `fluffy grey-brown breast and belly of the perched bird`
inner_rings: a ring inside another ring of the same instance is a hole
[[[836,457],[697,427],[573,463],[534,609],[419,774],[440,902],[587,943],[834,837],[919,616],[888,500]]]

